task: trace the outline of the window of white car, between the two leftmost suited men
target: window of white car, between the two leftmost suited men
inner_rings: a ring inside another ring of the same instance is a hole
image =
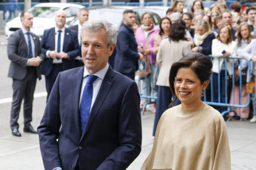
[[[54,17],[59,7],[32,7],[28,10],[33,14],[33,17],[51,18]]]

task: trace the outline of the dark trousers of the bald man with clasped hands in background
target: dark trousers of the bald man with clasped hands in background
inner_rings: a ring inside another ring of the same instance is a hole
[[[48,76],[45,76],[45,84],[47,91],[47,101],[49,99],[49,95],[51,94],[51,89],[53,89],[53,84],[59,74],[62,71],[62,63],[53,64],[53,68],[51,69],[51,73]]]

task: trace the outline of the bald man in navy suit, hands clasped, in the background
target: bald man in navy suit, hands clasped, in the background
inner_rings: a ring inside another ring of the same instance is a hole
[[[46,55],[41,65],[41,73],[45,75],[47,100],[58,73],[74,68],[74,59],[80,55],[77,33],[65,28],[66,12],[58,10],[55,21],[56,26],[45,30],[41,39],[41,47]]]

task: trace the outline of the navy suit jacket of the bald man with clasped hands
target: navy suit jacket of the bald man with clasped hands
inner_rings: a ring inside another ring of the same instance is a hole
[[[46,55],[47,51],[55,50],[55,28],[45,30],[41,39],[41,47],[43,54]],[[66,28],[63,42],[63,52],[69,55],[69,59],[62,59],[62,69],[68,70],[75,67],[75,57],[80,55],[80,46],[77,40],[77,32]],[[53,59],[45,58],[41,65],[41,73],[48,76],[53,67]]]

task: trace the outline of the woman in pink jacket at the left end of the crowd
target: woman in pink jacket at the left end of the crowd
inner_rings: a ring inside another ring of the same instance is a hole
[[[159,33],[160,29],[155,26],[155,23],[153,23],[152,15],[148,12],[145,12],[142,15],[141,18],[142,25],[140,25],[140,28],[137,29],[135,38],[137,41],[138,51],[142,52],[143,55],[147,56],[147,61],[149,63],[152,63],[152,70],[153,72],[156,71],[156,55],[153,53],[153,46],[154,46],[154,36],[156,33]],[[139,66],[140,67],[140,66]],[[145,70],[145,76],[147,76],[147,87],[145,79],[141,80],[142,83],[142,89],[141,94],[143,95],[151,95],[151,70],[150,65],[147,65],[147,70]],[[142,75],[140,75],[142,76]],[[154,91],[154,95],[156,95],[156,91]],[[148,100],[145,98],[142,98],[140,101],[140,108],[143,108],[143,105]],[[155,107],[149,108],[153,113],[155,113]]]

